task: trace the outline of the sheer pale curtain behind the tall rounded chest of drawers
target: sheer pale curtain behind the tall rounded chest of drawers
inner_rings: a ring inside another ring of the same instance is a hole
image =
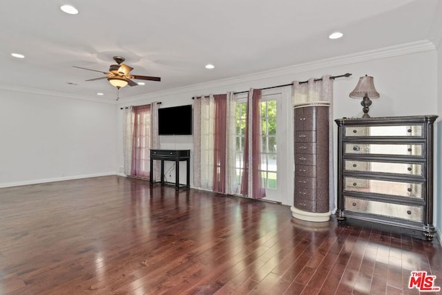
[[[314,78],[307,83],[300,84],[293,82],[291,102],[296,104],[307,104],[309,102],[329,102],[329,209],[334,210],[334,151],[333,151],[333,79],[331,75],[323,76],[315,82]]]

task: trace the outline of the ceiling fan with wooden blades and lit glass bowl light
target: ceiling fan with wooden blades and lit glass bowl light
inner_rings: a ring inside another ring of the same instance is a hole
[[[94,79],[88,79],[86,81],[95,81],[99,79],[107,79],[112,86],[122,88],[126,85],[129,86],[137,86],[136,82],[133,82],[132,79],[140,79],[140,80],[148,80],[148,81],[161,81],[160,77],[151,77],[151,76],[141,76],[141,75],[131,75],[131,70],[133,68],[131,66],[127,66],[123,64],[125,60],[124,57],[115,56],[113,60],[117,64],[111,64],[108,72],[102,72],[101,70],[93,70],[90,68],[81,68],[81,66],[73,66],[74,68],[81,68],[83,70],[93,70],[94,72],[103,73],[106,77],[99,77]]]

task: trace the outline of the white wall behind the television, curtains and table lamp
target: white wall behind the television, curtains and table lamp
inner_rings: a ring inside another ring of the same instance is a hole
[[[119,104],[117,107],[119,110],[121,106],[141,105],[153,101],[162,102],[162,107],[178,106],[191,104],[193,95],[246,91],[251,87],[265,88],[288,84],[294,80],[305,81],[310,77],[321,77],[327,74],[352,73],[351,77],[339,78],[334,82],[334,118],[362,116],[361,100],[349,98],[349,93],[356,86],[359,77],[365,74],[374,77],[376,89],[381,94],[379,99],[373,99],[374,102],[369,111],[372,117],[436,114],[436,59],[437,53],[434,46],[421,46],[419,44],[419,46],[413,45],[401,50],[387,48],[378,52],[361,53],[358,56],[291,66],[266,73],[256,73],[256,75],[189,86],[174,91],[165,91],[164,93],[154,93],[146,95],[146,97],[132,99]],[[119,163],[118,166],[122,167],[122,130],[120,127],[122,112],[119,112],[117,114],[117,162]],[[286,124],[289,126],[289,132],[292,133],[291,122],[286,122]],[[335,131],[336,129],[335,126]],[[193,149],[192,141],[191,136],[162,138],[161,148]],[[184,173],[182,175],[180,179],[183,179]],[[289,171],[286,176],[287,181],[291,182],[293,171]],[[292,183],[291,187],[293,187]],[[293,191],[293,189],[288,189],[288,191]],[[291,204],[290,200],[292,198],[288,196],[286,204]]]

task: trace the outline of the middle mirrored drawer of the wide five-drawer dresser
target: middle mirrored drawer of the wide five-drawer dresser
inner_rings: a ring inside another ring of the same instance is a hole
[[[344,171],[422,176],[423,164],[344,160]]]

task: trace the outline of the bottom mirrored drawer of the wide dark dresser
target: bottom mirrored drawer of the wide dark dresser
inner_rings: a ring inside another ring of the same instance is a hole
[[[389,218],[400,218],[415,222],[422,222],[423,220],[421,206],[363,200],[348,196],[344,196],[344,199],[344,206],[347,211],[368,213]]]

